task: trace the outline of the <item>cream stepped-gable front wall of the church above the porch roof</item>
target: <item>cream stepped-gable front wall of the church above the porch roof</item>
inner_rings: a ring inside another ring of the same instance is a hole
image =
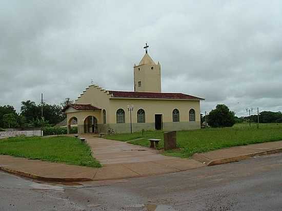
[[[81,94],[78,99],[75,101],[75,103],[91,103],[93,106],[98,107],[100,109],[105,109],[106,110],[106,118],[108,119],[109,116],[109,110],[110,110],[110,105],[109,105],[109,98],[110,94],[107,94],[105,90],[102,88],[92,85],[89,86],[86,91]],[[97,116],[97,123],[102,124],[103,123],[103,112],[99,112],[99,116]]]

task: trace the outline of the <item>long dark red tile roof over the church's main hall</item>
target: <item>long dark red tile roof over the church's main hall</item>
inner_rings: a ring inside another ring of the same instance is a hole
[[[164,93],[164,92],[124,92],[124,91],[108,91],[113,97],[126,98],[165,98],[165,99],[197,99],[204,100],[204,98],[195,97],[183,93]]]

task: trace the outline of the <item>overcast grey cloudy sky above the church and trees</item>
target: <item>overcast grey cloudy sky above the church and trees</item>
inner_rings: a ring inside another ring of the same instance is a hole
[[[0,105],[77,98],[91,84],[133,90],[149,54],[164,92],[282,111],[281,1],[0,1]]]

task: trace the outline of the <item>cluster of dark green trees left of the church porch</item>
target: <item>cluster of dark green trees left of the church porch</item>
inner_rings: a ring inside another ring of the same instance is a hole
[[[34,101],[27,100],[21,102],[19,113],[11,105],[0,106],[0,128],[36,128],[55,125],[66,118],[63,108],[70,103],[73,103],[70,98],[66,98],[60,105],[36,104]]]

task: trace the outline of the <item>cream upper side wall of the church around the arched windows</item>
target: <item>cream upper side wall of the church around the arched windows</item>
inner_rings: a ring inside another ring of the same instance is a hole
[[[145,111],[146,123],[155,122],[155,114],[163,114],[163,122],[172,122],[172,111],[178,109],[180,122],[189,121],[189,110],[194,109],[196,121],[200,122],[200,102],[199,100],[158,100],[158,99],[110,99],[111,115],[107,123],[116,123],[117,109],[124,109],[126,123],[130,122],[127,105],[133,104],[132,122],[137,122],[137,111]]]

